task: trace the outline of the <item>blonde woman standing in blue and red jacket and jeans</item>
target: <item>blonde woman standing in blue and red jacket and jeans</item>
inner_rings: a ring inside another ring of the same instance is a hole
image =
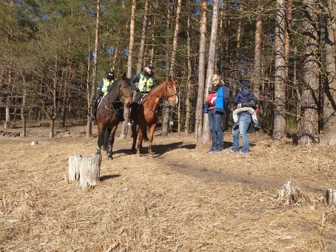
[[[221,76],[211,76],[212,87],[204,109],[209,116],[210,134],[212,145],[207,153],[218,153],[224,150],[222,119],[228,108],[230,89],[224,84]]]

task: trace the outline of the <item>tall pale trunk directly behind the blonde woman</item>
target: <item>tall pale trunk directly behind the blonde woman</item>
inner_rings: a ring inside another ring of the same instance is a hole
[[[217,30],[218,30],[218,0],[214,0],[213,14],[212,14],[212,25],[211,25],[211,35],[210,35],[210,48],[209,48],[209,59],[208,59],[208,70],[207,70],[207,82],[206,82],[206,92],[204,94],[204,101],[208,95],[208,88],[212,86],[211,77],[215,73],[216,66],[216,44],[217,44]],[[210,140],[210,126],[208,114],[204,113],[203,117],[203,144],[208,143]]]

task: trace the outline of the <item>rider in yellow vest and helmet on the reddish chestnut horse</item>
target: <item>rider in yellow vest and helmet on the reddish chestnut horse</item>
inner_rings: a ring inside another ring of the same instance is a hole
[[[138,83],[137,87],[135,85],[136,82]],[[137,103],[146,93],[157,86],[152,64],[147,64],[141,73],[134,75],[131,80],[131,85],[133,90],[136,91],[136,94],[132,104],[129,124],[133,123],[134,110],[137,108]]]

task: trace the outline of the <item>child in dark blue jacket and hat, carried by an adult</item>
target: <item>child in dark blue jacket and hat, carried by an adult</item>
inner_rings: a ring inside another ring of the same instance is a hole
[[[234,99],[234,103],[239,105],[239,108],[236,108],[233,113],[232,113],[232,117],[233,117],[233,129],[237,129],[238,127],[238,114],[240,112],[249,112],[252,116],[252,120],[254,122],[254,127],[261,129],[259,122],[258,122],[258,118],[257,118],[257,114],[255,113],[255,110],[252,107],[255,107],[258,99],[257,97],[255,97],[255,95],[251,92],[251,90],[249,90],[249,83],[246,80],[242,80],[240,81],[239,84],[239,93],[237,94],[237,96]]]

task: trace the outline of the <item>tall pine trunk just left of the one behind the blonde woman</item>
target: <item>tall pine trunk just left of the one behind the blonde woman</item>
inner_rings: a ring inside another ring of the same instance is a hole
[[[200,21],[200,56],[198,72],[198,91],[195,111],[195,138],[202,136],[203,132],[203,104],[205,86],[205,59],[206,59],[206,39],[207,39],[207,1],[201,0],[201,21]]]

